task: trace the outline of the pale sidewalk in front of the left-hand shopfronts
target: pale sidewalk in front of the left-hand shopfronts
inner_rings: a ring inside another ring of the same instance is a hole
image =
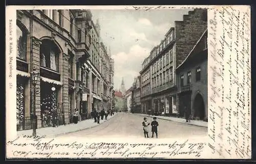
[[[108,120],[115,117],[118,114],[114,114],[114,115],[109,115],[108,116]],[[104,116],[105,119],[105,116]],[[100,120],[100,124],[108,121],[108,120]],[[44,128],[38,128],[36,129],[36,135],[46,135],[46,138],[53,138],[59,135],[63,135],[63,134],[67,134],[67,133],[71,133],[71,132],[76,132],[76,131],[80,131],[80,130],[84,130],[84,129],[89,129],[95,126],[98,126],[99,124],[97,124],[96,122],[94,122],[92,119],[88,119],[88,120],[83,120],[83,121],[78,121],[77,124],[71,123],[71,124],[66,124],[65,125],[60,125],[58,127],[44,127]],[[17,131],[17,135],[32,135],[33,130],[29,129],[29,130],[20,130]]]

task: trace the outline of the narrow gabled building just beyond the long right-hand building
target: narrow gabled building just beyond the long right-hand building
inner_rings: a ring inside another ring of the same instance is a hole
[[[141,113],[141,76],[137,76],[134,78],[133,89],[132,89],[132,113]]]

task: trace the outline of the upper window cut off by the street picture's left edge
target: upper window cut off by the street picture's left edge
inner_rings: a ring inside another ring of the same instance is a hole
[[[26,49],[27,49],[27,33],[22,31],[17,25],[17,58],[26,61]]]

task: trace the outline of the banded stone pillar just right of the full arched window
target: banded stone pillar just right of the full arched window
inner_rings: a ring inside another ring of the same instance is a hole
[[[70,120],[69,110],[69,55],[63,53],[62,58],[62,106],[64,112],[65,123],[68,124]]]

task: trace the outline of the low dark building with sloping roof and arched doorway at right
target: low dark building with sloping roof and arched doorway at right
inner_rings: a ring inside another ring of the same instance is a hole
[[[207,120],[207,50],[206,30],[176,69],[180,116],[186,106],[191,119]]]

